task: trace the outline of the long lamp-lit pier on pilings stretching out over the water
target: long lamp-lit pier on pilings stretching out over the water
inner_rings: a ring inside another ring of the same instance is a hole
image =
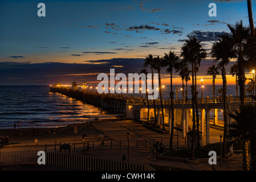
[[[80,88],[73,82],[72,85],[55,84],[50,86],[51,92],[64,94],[76,100],[85,102],[87,104],[99,107],[101,110],[107,111],[109,114],[123,114],[126,118],[131,118],[135,121],[143,121],[147,123],[148,105],[147,99],[134,96],[125,96],[123,94],[100,94],[87,90],[88,86],[84,85]],[[239,97],[227,96],[227,110],[231,112],[237,109],[240,104]],[[154,114],[153,100],[149,100],[149,117],[150,120],[157,118],[157,125],[171,126],[171,109],[170,100],[163,100],[165,121],[162,121],[162,110],[160,100],[155,100],[156,115]],[[198,109],[200,110],[200,131],[202,137],[205,136],[206,143],[210,143],[210,126],[218,126],[223,129],[223,124],[218,125],[218,111],[224,109],[223,98],[198,98]],[[254,100],[247,96],[246,102],[254,102]],[[210,125],[210,112],[213,113],[213,123]],[[233,118],[228,117],[228,123],[232,123]],[[182,130],[182,138],[192,129],[192,100],[174,100],[174,127],[179,127]],[[165,133],[170,133],[169,131]]]

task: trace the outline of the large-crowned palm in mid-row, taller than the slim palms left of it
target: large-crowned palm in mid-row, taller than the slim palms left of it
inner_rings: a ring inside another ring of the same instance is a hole
[[[206,57],[205,49],[202,48],[201,42],[197,41],[197,38],[189,38],[185,40],[181,48],[181,56],[184,57],[188,63],[192,65],[192,146],[191,146],[191,160],[194,160],[194,139],[195,139],[195,129],[197,122],[197,137],[199,138],[199,116],[198,116],[198,106],[197,106],[197,92],[196,92],[196,72],[197,65],[200,65],[200,61]],[[197,118],[195,113],[197,112]],[[199,140],[197,140],[197,146],[200,145]]]

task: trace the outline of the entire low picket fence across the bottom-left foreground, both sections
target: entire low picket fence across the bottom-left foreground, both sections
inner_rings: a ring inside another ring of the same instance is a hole
[[[0,166],[37,164],[38,151],[0,152]],[[77,171],[154,171],[148,164],[125,162],[62,152],[46,152],[48,166]]]

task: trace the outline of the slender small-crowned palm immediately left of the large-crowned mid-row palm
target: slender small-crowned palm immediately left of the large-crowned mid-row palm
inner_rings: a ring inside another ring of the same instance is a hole
[[[173,100],[173,87],[172,87],[172,73],[173,69],[176,67],[178,63],[179,57],[176,55],[175,52],[170,51],[168,54],[164,53],[163,61],[164,65],[168,68],[166,69],[167,72],[170,73],[170,109],[172,111],[172,123],[170,127],[170,149],[173,148],[173,129],[174,129],[174,100]]]

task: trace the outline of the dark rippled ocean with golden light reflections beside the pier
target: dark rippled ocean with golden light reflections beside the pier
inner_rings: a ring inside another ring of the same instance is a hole
[[[173,90],[176,88],[174,85]],[[178,90],[180,88],[178,86]],[[217,92],[220,88],[221,85],[216,85],[216,95],[220,96]],[[163,90],[165,99],[169,99],[169,90],[169,86]],[[178,98],[181,98],[181,94],[181,91],[178,92]],[[190,94],[188,86],[189,98]],[[212,85],[206,85],[203,94],[204,97],[212,97]],[[227,87],[227,96],[230,94],[235,96],[233,85]],[[145,97],[145,94],[135,96]],[[200,97],[201,89],[198,88],[198,98]],[[71,123],[92,121],[95,117],[116,116],[62,94],[51,93],[49,86],[0,86],[0,129],[14,127],[14,124],[18,127],[18,123],[21,127],[67,126]]]

